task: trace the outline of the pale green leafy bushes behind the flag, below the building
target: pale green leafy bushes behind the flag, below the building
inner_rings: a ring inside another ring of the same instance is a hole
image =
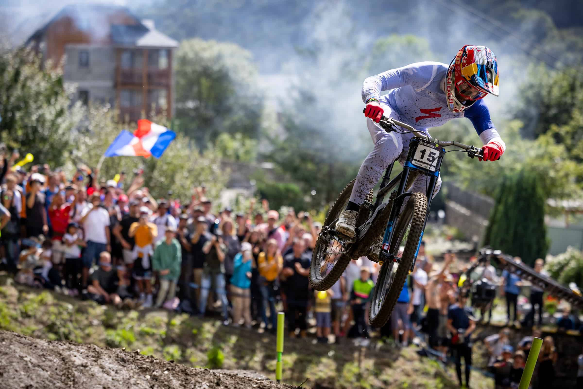
[[[115,121],[115,111],[109,107],[91,105],[87,112],[87,124],[76,138],[72,162],[82,162],[95,167],[110,143],[120,134],[124,126]],[[169,126],[163,117],[154,120],[157,124]],[[126,128],[132,130],[132,128]],[[229,178],[229,172],[220,167],[221,156],[212,147],[199,152],[194,143],[182,134],[166,149],[160,159],[149,157],[108,157],[104,160],[100,177],[113,178],[125,171],[131,177],[132,171],[143,168],[144,185],[155,198],[166,198],[168,190],[173,197],[189,201],[192,187],[206,184],[209,198],[217,198]],[[67,169],[74,169],[69,163]],[[72,171],[71,171],[72,173]],[[126,183],[128,184],[128,183]]]

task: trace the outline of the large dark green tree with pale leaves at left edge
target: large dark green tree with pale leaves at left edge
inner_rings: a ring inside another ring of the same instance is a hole
[[[60,67],[41,69],[28,48],[0,48],[0,139],[22,155],[32,153],[36,162],[61,166],[83,115],[80,104],[70,106],[73,91]]]

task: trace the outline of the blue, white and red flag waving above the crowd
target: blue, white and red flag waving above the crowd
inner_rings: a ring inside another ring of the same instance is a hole
[[[122,131],[117,138],[111,142],[104,156],[142,156],[150,155],[158,159],[170,142],[176,138],[176,133],[161,125],[149,120],[138,120],[138,129],[132,134],[129,131]]]

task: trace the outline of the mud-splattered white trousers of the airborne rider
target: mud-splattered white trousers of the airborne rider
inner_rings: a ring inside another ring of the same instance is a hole
[[[399,120],[399,116],[391,109],[391,107],[382,104],[385,110],[384,115],[387,117]],[[350,201],[356,204],[363,204],[366,195],[377,184],[381,178],[382,173],[387,169],[389,163],[395,162],[399,159],[399,163],[404,164],[409,152],[409,142],[413,138],[413,134],[398,134],[397,132],[387,132],[379,125],[367,118],[368,132],[373,138],[374,148],[368,153],[362,166],[360,166],[359,174],[356,176],[356,182],[352,188]],[[404,130],[402,130],[404,131]],[[426,131],[424,131],[426,132]],[[427,193],[427,185],[429,185],[430,178],[427,176],[418,176],[411,185],[410,191]],[[441,175],[437,178],[433,197],[439,192],[441,187]]]

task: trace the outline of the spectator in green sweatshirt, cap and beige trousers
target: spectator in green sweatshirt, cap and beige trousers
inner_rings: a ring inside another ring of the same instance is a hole
[[[176,227],[166,226],[163,240],[156,244],[152,256],[152,269],[160,274],[160,290],[156,299],[156,307],[162,306],[164,301],[171,302],[176,296],[176,283],[180,277],[182,264],[182,249],[174,237]]]

